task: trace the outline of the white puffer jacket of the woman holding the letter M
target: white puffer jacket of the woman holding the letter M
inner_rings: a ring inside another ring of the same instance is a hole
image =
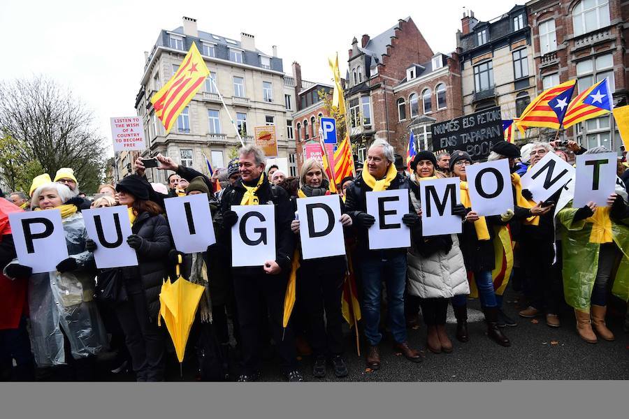
[[[412,174],[409,182],[417,181]],[[411,193],[413,207],[419,211],[419,198]],[[412,245],[407,255],[407,290],[410,295],[421,298],[449,298],[454,295],[469,294],[467,273],[463,262],[463,252],[458,247],[458,237],[451,235],[452,248],[449,253],[438,251],[424,258]]]

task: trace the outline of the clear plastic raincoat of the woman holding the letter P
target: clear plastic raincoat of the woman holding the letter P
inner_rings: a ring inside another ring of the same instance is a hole
[[[63,219],[68,254],[78,269],[33,274],[29,279],[31,346],[38,367],[66,363],[62,328],[75,359],[94,355],[106,346],[106,331],[96,309],[94,255],[85,250],[87,233],[80,212]],[[17,259],[12,263],[17,263]]]

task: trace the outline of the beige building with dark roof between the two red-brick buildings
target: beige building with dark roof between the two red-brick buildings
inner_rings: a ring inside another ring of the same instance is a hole
[[[456,45],[465,115],[500,106],[503,119],[513,119],[537,96],[526,6],[516,5],[489,22],[479,21],[471,10],[466,12]],[[519,132],[514,135],[516,141],[523,140]]]

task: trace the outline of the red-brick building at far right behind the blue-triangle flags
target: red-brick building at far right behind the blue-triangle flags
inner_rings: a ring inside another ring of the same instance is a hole
[[[526,3],[526,8],[533,29],[538,92],[574,79],[578,91],[583,91],[609,78],[614,105],[628,104],[629,2],[533,0]],[[577,140],[586,148],[605,146],[616,152],[622,145],[612,115],[568,128],[565,139]]]

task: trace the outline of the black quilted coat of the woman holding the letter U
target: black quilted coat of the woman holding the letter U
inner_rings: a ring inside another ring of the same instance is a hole
[[[144,292],[150,317],[157,319],[161,284],[167,277],[168,251],[173,247],[171,230],[164,216],[143,212],[133,222],[131,231],[144,241],[136,250],[138,266],[124,268],[126,291]]]

